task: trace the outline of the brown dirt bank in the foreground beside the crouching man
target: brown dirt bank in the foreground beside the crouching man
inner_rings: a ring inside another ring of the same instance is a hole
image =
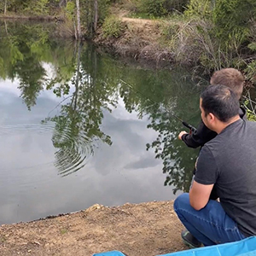
[[[172,201],[94,205],[87,210],[30,223],[0,227],[0,254],[83,255],[119,250],[150,256],[187,249]]]

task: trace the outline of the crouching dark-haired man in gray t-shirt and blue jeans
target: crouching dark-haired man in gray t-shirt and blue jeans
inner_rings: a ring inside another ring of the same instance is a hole
[[[218,135],[201,149],[195,181],[175,212],[205,246],[256,236],[256,123],[240,119],[239,102],[223,85],[208,86],[200,108]],[[220,202],[209,200],[213,185]]]

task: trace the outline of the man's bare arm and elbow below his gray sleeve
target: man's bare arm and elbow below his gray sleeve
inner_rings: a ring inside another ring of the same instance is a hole
[[[207,205],[214,184],[203,185],[196,181],[192,184],[192,189],[189,191],[189,202],[191,207],[199,211]]]

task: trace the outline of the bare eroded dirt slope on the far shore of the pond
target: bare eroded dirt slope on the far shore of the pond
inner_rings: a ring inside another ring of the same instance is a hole
[[[154,61],[159,66],[170,65],[172,53],[166,45],[160,44],[163,31],[161,26],[164,21],[131,19],[118,12],[116,15],[122,20],[124,32],[119,38],[106,38],[102,28],[99,28],[93,39],[94,43],[107,47],[118,55],[131,56],[138,61]]]

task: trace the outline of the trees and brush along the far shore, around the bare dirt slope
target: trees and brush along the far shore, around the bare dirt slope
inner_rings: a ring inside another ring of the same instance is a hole
[[[127,17],[154,20],[159,37],[154,47],[148,48],[157,53],[149,55],[154,59],[199,65],[208,73],[236,67],[246,74],[248,81],[255,83],[254,0],[3,0],[0,3],[2,17],[46,20],[51,17],[62,23],[62,36],[102,38],[101,42],[108,45],[109,41],[112,45],[120,41],[127,32],[132,37],[131,27],[116,10],[122,10]],[[125,44],[129,43],[126,40]],[[138,55],[149,44],[137,40],[137,49],[133,45],[130,52]]]

